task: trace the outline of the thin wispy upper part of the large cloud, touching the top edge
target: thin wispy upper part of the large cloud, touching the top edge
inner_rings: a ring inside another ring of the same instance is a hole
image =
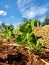
[[[18,8],[20,9],[20,11],[24,11],[30,6],[32,6],[34,3],[32,3],[32,0],[17,0],[17,4],[18,4]]]

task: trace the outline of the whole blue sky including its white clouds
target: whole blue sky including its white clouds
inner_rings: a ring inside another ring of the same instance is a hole
[[[0,0],[0,23],[17,27],[23,18],[44,20],[49,13],[49,0]]]

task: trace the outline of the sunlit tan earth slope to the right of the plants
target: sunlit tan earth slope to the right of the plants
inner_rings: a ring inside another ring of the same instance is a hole
[[[34,34],[36,36],[42,36],[41,40],[44,40],[44,46],[49,49],[49,25],[45,25],[43,27],[35,27]]]

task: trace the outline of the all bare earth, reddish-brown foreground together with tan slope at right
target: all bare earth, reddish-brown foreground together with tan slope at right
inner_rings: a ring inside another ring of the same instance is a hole
[[[36,36],[42,36],[44,40],[43,56],[40,58],[24,46],[0,45],[0,65],[49,65],[49,25],[35,27]],[[0,44],[9,44],[7,40],[0,39]]]

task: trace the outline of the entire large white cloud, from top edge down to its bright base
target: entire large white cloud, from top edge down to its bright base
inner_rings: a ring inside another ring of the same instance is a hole
[[[25,18],[33,18],[44,15],[48,8],[46,6],[35,6],[35,0],[18,0],[18,8]]]

